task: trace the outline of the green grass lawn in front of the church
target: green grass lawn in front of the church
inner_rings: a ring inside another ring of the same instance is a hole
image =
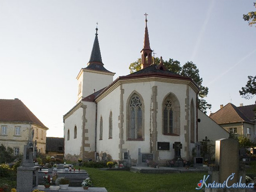
[[[143,174],[96,168],[82,169],[88,172],[95,187],[105,187],[108,192],[194,192],[198,182],[208,174]]]

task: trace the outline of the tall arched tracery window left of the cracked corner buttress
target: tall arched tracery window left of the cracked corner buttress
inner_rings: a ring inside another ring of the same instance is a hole
[[[144,111],[142,100],[137,94],[134,94],[128,102],[128,140],[143,140],[142,119]]]

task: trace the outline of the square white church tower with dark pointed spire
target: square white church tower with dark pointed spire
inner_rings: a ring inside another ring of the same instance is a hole
[[[76,103],[110,85],[113,82],[114,75],[115,73],[106,70],[102,63],[97,27],[90,60],[87,67],[82,68],[76,77],[78,80],[78,99]]]

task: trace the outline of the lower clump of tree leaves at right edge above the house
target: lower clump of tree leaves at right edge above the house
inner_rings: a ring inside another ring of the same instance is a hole
[[[242,87],[242,90],[239,91],[245,99],[253,98],[256,95],[256,76],[248,76],[248,81],[245,87]]]

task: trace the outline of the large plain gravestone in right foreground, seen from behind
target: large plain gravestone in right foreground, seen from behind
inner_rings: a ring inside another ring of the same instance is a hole
[[[228,180],[228,186],[236,183],[245,183],[245,172],[240,170],[239,144],[235,139],[216,140],[215,166],[210,167],[208,183],[224,183],[230,175],[234,178]],[[242,180],[240,181],[240,177]],[[205,192],[245,192],[245,188],[206,188]]]

